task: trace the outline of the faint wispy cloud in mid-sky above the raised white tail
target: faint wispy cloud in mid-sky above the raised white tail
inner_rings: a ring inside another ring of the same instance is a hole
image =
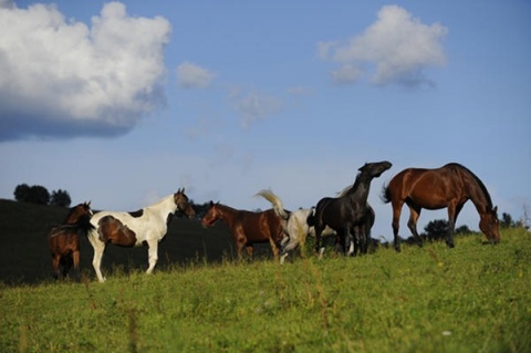
[[[250,125],[282,111],[284,105],[281,98],[257,91],[250,91],[244,96],[241,94],[232,94],[230,101],[232,107],[240,115],[241,125],[243,127],[249,127]]]

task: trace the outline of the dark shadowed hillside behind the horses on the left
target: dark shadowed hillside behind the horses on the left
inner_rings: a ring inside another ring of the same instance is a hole
[[[48,233],[66,217],[69,209],[0,199],[0,282],[37,283],[52,277],[52,259]],[[258,256],[268,256],[269,245],[258,246]],[[175,217],[159,245],[155,270],[190,262],[219,262],[235,257],[228,228],[222,222],[204,228],[198,219]],[[93,250],[86,238],[81,239],[82,272],[94,278]],[[147,269],[147,248],[124,249],[108,246],[103,270]]]

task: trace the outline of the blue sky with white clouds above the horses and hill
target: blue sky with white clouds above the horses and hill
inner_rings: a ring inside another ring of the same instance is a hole
[[[19,184],[134,210],[310,207],[458,162],[531,211],[531,2],[0,0],[0,198]],[[400,235],[408,236],[403,215]],[[423,211],[419,229],[446,211]],[[458,225],[478,229],[469,203]]]

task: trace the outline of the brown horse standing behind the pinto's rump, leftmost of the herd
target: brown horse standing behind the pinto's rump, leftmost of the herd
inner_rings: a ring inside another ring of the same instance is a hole
[[[64,222],[48,235],[55,279],[66,277],[72,266],[76,277],[80,277],[80,233],[86,235],[92,228],[91,217],[91,203],[80,204],[72,207]]]

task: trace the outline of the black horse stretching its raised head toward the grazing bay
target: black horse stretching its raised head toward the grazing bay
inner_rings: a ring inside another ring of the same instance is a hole
[[[351,243],[358,246],[362,253],[367,252],[368,239],[365,225],[374,222],[374,211],[367,204],[371,181],[389,169],[389,162],[367,163],[358,170],[354,185],[340,197],[325,197],[317,203],[313,226],[315,227],[315,251],[322,252],[321,233],[326,226],[336,231],[339,245],[347,255]],[[360,226],[364,227],[360,227]],[[353,235],[354,233],[354,235]]]

